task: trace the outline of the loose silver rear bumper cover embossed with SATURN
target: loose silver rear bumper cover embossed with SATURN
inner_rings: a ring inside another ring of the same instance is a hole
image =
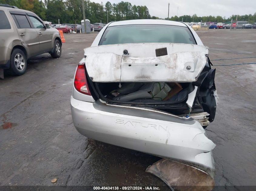
[[[109,106],[71,96],[75,128],[89,138],[200,168],[211,176],[215,144],[199,122],[146,108]]]

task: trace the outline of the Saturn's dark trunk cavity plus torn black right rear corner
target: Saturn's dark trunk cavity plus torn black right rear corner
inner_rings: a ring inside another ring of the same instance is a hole
[[[112,105],[148,107],[174,115],[209,113],[209,121],[215,117],[215,69],[210,60],[194,82],[93,82],[87,78],[90,91],[98,98]],[[88,73],[87,73],[88,76]],[[192,107],[188,106],[188,94],[197,87]]]

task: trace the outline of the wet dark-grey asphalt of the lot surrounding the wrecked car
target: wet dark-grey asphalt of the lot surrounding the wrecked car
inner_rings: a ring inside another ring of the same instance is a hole
[[[0,80],[0,186],[164,186],[146,168],[160,158],[101,143],[74,128],[70,96],[83,48],[98,33],[67,34],[62,56],[28,61],[22,76]],[[210,59],[256,56],[256,30],[198,31]],[[213,64],[256,62],[256,58],[213,60]],[[104,64],[104,63],[102,63]],[[215,144],[217,186],[253,186],[256,166],[256,65],[215,66],[219,95],[207,127]],[[227,187],[228,189],[228,187]],[[215,190],[218,190],[216,188]]]

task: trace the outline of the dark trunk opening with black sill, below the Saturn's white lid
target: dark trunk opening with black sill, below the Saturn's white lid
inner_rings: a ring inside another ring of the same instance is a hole
[[[94,82],[98,97],[112,105],[149,107],[174,115],[189,113],[186,103],[188,94],[194,90],[192,82]],[[191,113],[203,112],[200,105],[194,104]]]

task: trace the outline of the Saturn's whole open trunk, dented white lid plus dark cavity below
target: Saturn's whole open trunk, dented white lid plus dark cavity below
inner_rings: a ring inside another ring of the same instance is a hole
[[[90,91],[113,105],[154,108],[190,115],[207,126],[215,116],[215,69],[208,47],[138,43],[85,49]]]

